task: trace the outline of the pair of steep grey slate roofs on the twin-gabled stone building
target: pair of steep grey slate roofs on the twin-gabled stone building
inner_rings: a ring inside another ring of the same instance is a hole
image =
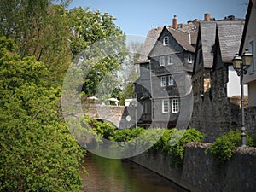
[[[222,61],[230,63],[239,51],[241,35],[243,32],[243,20],[222,20],[222,21],[201,21],[200,34],[203,64],[205,68],[212,68],[213,51],[215,45],[216,32]],[[198,49],[198,48],[197,48]]]

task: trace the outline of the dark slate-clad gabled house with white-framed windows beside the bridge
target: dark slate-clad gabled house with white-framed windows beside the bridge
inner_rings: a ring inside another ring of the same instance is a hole
[[[198,20],[178,25],[176,15],[172,26],[148,32],[137,60],[140,78],[135,82],[135,92],[143,108],[137,125],[171,128],[177,126],[181,116],[179,121],[184,125],[190,118],[189,113],[180,114],[193,107],[188,97],[197,32]]]

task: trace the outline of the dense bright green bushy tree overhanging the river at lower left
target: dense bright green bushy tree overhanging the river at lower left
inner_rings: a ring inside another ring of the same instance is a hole
[[[0,38],[0,191],[79,191],[84,151],[61,119],[60,89],[35,57]]]

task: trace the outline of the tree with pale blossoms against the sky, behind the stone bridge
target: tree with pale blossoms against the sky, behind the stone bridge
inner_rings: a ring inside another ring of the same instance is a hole
[[[127,53],[125,35],[108,13],[75,8],[70,10],[69,18],[73,59],[84,71],[82,90],[86,96],[93,96],[108,73],[117,77],[113,71],[119,68]]]

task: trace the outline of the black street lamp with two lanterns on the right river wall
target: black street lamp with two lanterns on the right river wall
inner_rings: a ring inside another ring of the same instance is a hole
[[[248,67],[250,67],[253,61],[253,54],[245,50],[245,52],[240,56],[236,54],[232,62],[233,67],[236,70],[238,76],[240,76],[241,84],[241,147],[246,147],[246,128],[245,128],[245,116],[244,116],[244,93],[243,93],[243,75],[247,73]]]

